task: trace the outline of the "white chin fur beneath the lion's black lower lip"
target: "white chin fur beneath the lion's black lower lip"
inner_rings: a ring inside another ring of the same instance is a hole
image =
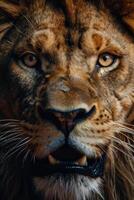
[[[45,178],[34,178],[37,192],[43,196],[43,200],[92,200],[97,194],[101,194],[101,179],[91,179],[82,175],[60,174]]]

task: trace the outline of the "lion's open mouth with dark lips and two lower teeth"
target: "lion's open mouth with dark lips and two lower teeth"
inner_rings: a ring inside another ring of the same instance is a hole
[[[62,173],[97,178],[103,176],[105,160],[106,154],[97,158],[88,158],[78,150],[64,145],[49,154],[47,158],[35,160],[35,163],[30,165],[30,172],[37,177]]]

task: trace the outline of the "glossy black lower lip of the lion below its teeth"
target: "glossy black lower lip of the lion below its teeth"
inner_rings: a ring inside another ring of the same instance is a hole
[[[97,178],[103,176],[104,164],[106,156],[103,155],[93,165],[80,166],[73,163],[60,163],[55,165],[36,162],[34,165],[29,166],[29,170],[32,176],[44,177],[53,175],[55,173],[62,174],[80,174],[90,176],[91,178]]]

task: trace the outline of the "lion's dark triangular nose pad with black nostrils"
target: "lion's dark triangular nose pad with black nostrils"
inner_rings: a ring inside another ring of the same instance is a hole
[[[95,106],[93,106],[89,111],[83,108],[67,112],[55,109],[46,109],[41,112],[41,115],[44,120],[53,123],[66,137],[68,137],[76,124],[90,117],[95,110]]]

